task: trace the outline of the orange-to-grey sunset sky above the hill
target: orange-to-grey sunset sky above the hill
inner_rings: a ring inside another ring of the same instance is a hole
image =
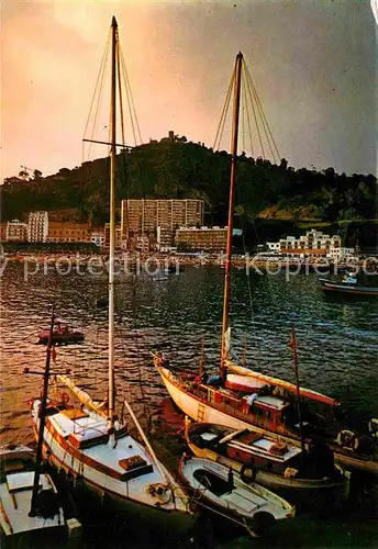
[[[242,51],[289,165],[376,172],[377,27],[366,0],[2,0],[3,177],[81,164],[112,15],[144,143],[174,130],[212,146]]]

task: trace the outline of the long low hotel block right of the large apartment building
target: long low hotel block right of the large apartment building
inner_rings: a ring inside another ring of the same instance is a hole
[[[180,227],[176,231],[176,245],[182,251],[223,253],[227,227]]]

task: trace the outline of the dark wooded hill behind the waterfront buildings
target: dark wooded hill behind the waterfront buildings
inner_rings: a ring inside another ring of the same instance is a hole
[[[202,199],[205,223],[224,224],[227,215],[231,156],[213,152],[185,136],[151,142],[118,155],[116,199]],[[237,163],[236,214],[238,225],[251,225],[264,210],[289,212],[297,223],[374,220],[377,217],[377,181],[373,175],[294,169],[284,158],[279,165],[244,153]],[[109,214],[109,159],[62,168],[43,177],[21,171],[1,188],[2,221],[26,219],[30,211],[62,212],[62,221],[103,224]],[[277,216],[277,213],[276,213]]]

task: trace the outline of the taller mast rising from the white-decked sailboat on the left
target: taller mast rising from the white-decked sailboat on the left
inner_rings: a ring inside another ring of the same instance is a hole
[[[109,249],[109,421],[114,423],[114,253],[115,253],[115,108],[118,24],[112,19],[111,150],[110,150],[110,249]]]

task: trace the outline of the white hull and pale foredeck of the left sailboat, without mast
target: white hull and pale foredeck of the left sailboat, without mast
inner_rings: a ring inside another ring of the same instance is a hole
[[[38,401],[34,401],[32,416],[36,433],[37,408]],[[96,416],[94,413],[92,415]],[[155,466],[151,472],[141,477],[130,480],[116,478],[116,466],[126,456],[138,455],[148,460],[145,449],[134,438],[129,435],[122,437],[116,441],[115,448],[113,441],[108,441],[85,450],[73,448],[67,438],[57,434],[51,425],[49,427],[46,425],[44,457],[60,474],[63,472],[67,480],[73,482],[76,490],[89,491],[98,496],[107,506],[107,511],[127,512],[127,515],[137,516],[147,515],[148,518],[155,517],[159,520],[162,518],[166,520],[168,516],[175,517],[175,527],[177,520],[180,523],[177,530],[189,529],[192,526],[189,500],[165,468],[167,479],[174,486],[174,493],[170,490],[162,495],[151,493],[152,486],[157,488],[166,483]]]

